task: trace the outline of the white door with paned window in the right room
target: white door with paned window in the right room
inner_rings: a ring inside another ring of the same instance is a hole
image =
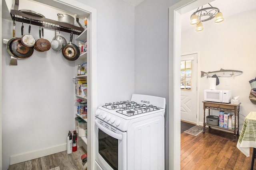
[[[197,53],[181,56],[180,119],[197,123]]]

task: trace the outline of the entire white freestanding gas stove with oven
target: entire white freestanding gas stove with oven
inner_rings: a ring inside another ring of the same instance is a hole
[[[165,98],[133,94],[96,111],[96,170],[164,169]]]

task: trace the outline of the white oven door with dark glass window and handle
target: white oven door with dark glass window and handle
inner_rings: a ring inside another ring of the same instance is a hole
[[[95,118],[96,161],[104,170],[127,170],[127,133]]]

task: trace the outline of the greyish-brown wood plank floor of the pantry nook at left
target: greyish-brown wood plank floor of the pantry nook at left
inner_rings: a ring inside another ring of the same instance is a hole
[[[67,154],[67,151],[51,154],[10,165],[8,170],[82,170],[84,164],[81,156],[84,153],[86,151],[79,147],[76,152],[71,154]]]

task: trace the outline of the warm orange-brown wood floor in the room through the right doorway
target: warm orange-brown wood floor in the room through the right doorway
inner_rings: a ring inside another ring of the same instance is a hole
[[[205,133],[181,133],[180,169],[182,170],[250,170],[250,157],[246,157],[233,142],[233,134],[206,129]],[[256,170],[256,161],[254,161]]]

